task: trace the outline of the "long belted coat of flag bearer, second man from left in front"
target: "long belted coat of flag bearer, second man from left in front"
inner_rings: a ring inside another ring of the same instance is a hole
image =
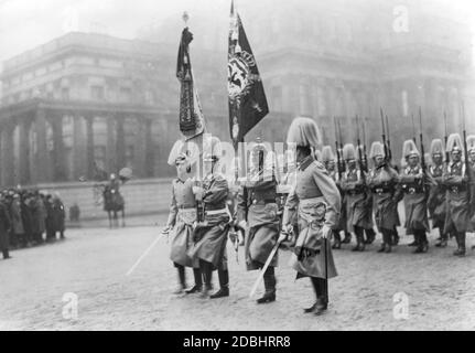
[[[208,211],[227,210],[229,194],[227,180],[222,174],[210,174],[203,181],[205,224],[195,229],[195,244],[188,250],[193,259],[202,259],[227,269],[226,243],[229,231],[229,211],[208,214]]]

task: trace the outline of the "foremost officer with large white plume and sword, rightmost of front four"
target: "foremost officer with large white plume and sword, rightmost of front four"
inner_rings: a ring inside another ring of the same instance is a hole
[[[323,164],[315,161],[312,149],[320,145],[319,128],[310,118],[296,118],[288,132],[288,143],[296,145],[298,175],[283,215],[283,228],[292,229],[291,218],[298,214],[299,236],[291,264],[296,278],[310,277],[316,302],[304,312],[316,315],[327,309],[327,279],[337,276],[327,239],[339,217],[341,195]]]

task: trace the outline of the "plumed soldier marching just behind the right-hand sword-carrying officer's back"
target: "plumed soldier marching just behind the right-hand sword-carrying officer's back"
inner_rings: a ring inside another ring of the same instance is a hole
[[[356,235],[356,246],[353,252],[365,250],[365,229],[370,227],[368,224],[368,203],[366,195],[364,171],[356,167],[356,151],[352,143],[343,148],[343,158],[345,159],[347,170],[343,174],[341,188],[345,193],[347,228],[353,229]],[[369,208],[370,210],[370,208]]]

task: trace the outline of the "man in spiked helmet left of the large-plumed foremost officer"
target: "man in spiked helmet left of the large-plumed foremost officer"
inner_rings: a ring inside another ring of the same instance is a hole
[[[252,149],[252,167],[238,195],[238,223],[242,228],[248,226],[249,229],[245,242],[247,270],[262,269],[279,238],[277,180],[272,165],[265,162],[267,156],[268,151],[262,143]],[[263,274],[266,292],[257,300],[259,304],[276,300],[277,265],[276,254]]]

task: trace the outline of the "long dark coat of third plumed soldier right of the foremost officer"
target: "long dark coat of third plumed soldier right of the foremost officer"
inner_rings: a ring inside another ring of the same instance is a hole
[[[422,180],[415,179],[415,175],[421,172],[419,165],[415,168],[407,167],[399,176],[401,190],[404,193],[404,227],[408,235],[413,235],[414,231],[430,231],[425,189],[423,189]]]

